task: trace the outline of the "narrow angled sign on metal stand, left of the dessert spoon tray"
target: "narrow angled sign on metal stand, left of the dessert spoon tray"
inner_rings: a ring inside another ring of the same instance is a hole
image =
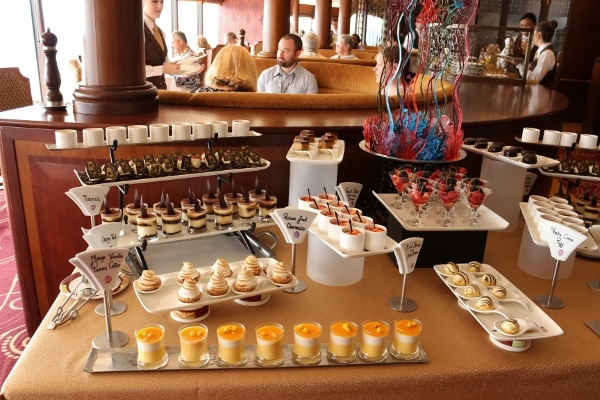
[[[423,246],[423,238],[415,237],[404,239],[394,246],[394,254],[398,262],[398,270],[404,278],[402,279],[402,295],[392,297],[388,300],[388,306],[394,311],[411,312],[417,309],[417,302],[405,297],[406,281],[408,274],[414,271],[415,263]]]

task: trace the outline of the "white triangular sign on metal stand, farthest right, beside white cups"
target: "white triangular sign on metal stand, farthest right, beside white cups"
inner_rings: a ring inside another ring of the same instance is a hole
[[[565,306],[561,299],[554,297],[554,286],[556,285],[560,262],[566,261],[571,253],[576,251],[577,247],[587,239],[587,236],[557,222],[545,222],[542,230],[548,240],[550,255],[556,260],[556,264],[550,283],[550,293],[535,296],[535,301],[542,307],[559,309]]]

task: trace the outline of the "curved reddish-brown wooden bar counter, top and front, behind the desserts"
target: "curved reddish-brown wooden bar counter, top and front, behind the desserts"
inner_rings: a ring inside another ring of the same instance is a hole
[[[464,112],[466,136],[513,138],[524,126],[541,129],[560,129],[567,99],[558,92],[542,86],[503,86],[463,82],[460,99]],[[449,107],[448,112],[451,108]],[[377,110],[268,110],[244,108],[194,108],[162,104],[150,114],[126,116],[92,116],[65,111],[46,111],[39,105],[0,113],[0,144],[2,147],[2,176],[10,207],[11,229],[19,279],[24,294],[24,309],[29,333],[39,325],[58,293],[60,281],[70,273],[68,262],[86,247],[81,227],[89,228],[90,221],[65,196],[69,189],[79,186],[74,170],[83,171],[85,162],[109,158],[106,148],[51,151],[46,144],[54,142],[55,129],[76,129],[79,141],[81,130],[87,127],[128,126],[152,123],[214,121],[247,119],[251,129],[263,134],[255,138],[219,140],[220,146],[250,145],[271,162],[260,173],[236,175],[235,183],[246,190],[259,178],[271,192],[287,204],[289,161],[285,156],[293,138],[301,129],[313,129],[318,135],[336,132],[346,143],[344,160],[339,166],[338,181],[360,182],[369,187],[377,169],[377,157],[359,149],[362,125],[367,116]],[[508,142],[507,142],[508,143]],[[116,157],[128,159],[145,153],[202,151],[206,143],[168,143],[152,146],[121,146]],[[461,163],[469,173],[476,174],[480,160],[467,157]],[[215,181],[212,181],[213,188]],[[165,184],[131,185],[125,201],[133,199],[135,188],[156,201],[164,189],[171,199],[179,201],[189,188],[197,194],[206,190],[206,179],[167,182]],[[227,186],[226,186],[227,187]],[[333,190],[333,188],[331,188]],[[365,189],[368,191],[368,189]],[[117,190],[109,192],[113,204]]]

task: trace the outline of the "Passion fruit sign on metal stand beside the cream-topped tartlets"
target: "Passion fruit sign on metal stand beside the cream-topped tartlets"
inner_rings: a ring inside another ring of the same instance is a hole
[[[273,220],[281,229],[287,243],[292,245],[292,275],[296,276],[296,244],[302,243],[308,234],[308,229],[317,214],[297,208],[280,208],[271,213]],[[302,293],[306,290],[306,283],[298,280],[294,287],[284,290],[285,293]]]

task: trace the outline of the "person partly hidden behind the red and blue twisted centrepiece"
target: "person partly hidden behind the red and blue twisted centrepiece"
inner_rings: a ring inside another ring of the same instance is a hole
[[[406,50],[403,50],[406,52]],[[408,70],[406,63],[402,72],[400,68],[400,48],[398,46],[387,46],[377,53],[375,58],[377,64],[373,67],[375,79],[380,84],[381,94],[384,96],[401,96],[405,85],[413,80],[415,74]]]

